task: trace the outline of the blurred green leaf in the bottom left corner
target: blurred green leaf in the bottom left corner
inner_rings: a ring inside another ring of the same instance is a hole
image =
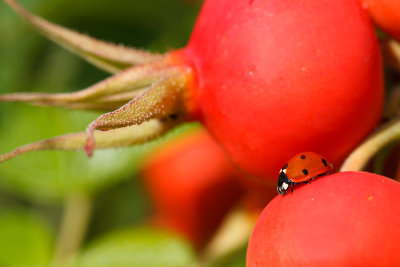
[[[34,214],[12,211],[0,215],[0,266],[47,266],[52,250],[52,234]]]

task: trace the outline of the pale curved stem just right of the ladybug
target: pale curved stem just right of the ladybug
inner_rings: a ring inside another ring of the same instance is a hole
[[[340,171],[362,170],[376,152],[398,139],[400,139],[400,118],[385,124],[357,147],[343,163]]]

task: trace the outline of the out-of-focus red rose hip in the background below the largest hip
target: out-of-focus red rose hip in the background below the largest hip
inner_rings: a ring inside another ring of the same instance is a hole
[[[201,248],[238,202],[242,187],[222,150],[205,131],[167,143],[146,162],[152,222]]]

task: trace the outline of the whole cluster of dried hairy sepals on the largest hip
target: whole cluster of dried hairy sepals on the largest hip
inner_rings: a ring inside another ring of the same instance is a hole
[[[90,124],[88,135],[83,132],[67,134],[28,144],[0,155],[0,162],[35,150],[85,148],[91,155],[95,144],[97,148],[131,146],[164,134],[186,119],[182,88],[190,84],[191,73],[188,69],[183,69],[179,57],[173,53],[152,54],[99,41],[37,17],[13,0],[5,2],[49,39],[93,65],[116,74],[78,92],[4,94],[0,95],[0,101],[115,111]],[[144,123],[145,121],[147,122]],[[121,127],[126,128],[93,133],[96,129],[111,130]]]

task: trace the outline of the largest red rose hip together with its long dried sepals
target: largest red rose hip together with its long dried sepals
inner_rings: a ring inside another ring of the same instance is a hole
[[[75,94],[0,96],[86,109],[129,102],[89,125],[88,154],[95,144],[132,145],[178,122],[199,120],[238,167],[274,184],[285,160],[301,151],[318,152],[339,166],[380,118],[381,58],[357,0],[208,0],[188,45],[164,56],[90,41],[7,2],[102,68],[116,72],[137,64]],[[129,125],[138,131],[119,129],[109,134],[113,138],[94,132]],[[43,148],[82,148],[85,137],[24,147],[0,161]]]

